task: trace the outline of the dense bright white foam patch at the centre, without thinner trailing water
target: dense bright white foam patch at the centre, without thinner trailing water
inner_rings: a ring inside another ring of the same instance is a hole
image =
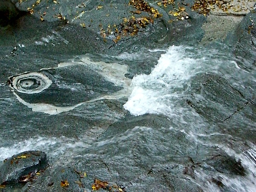
[[[169,113],[169,99],[180,97],[175,88],[183,88],[195,70],[196,60],[186,58],[183,47],[170,47],[158,60],[149,75],[138,75],[132,80],[133,91],[124,108],[135,116],[145,113]],[[174,91],[172,91],[174,90]]]

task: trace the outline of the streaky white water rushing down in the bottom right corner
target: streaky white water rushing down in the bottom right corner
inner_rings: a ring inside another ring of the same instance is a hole
[[[207,172],[204,169],[196,169],[195,180],[191,180],[197,183],[204,191],[209,192],[221,192],[223,191],[215,183],[210,182],[211,178],[218,178],[224,185],[224,190],[229,191],[256,191],[256,145],[247,141],[247,145],[244,146],[244,141],[239,138],[234,138],[231,135],[226,134],[196,134],[183,131],[186,137],[200,143],[201,145],[218,148],[224,151],[228,156],[233,157],[236,162],[241,162],[241,166],[245,169],[246,173],[244,176],[239,175],[227,175],[222,172]],[[224,142],[224,140],[227,140]],[[214,169],[213,169],[214,170]]]

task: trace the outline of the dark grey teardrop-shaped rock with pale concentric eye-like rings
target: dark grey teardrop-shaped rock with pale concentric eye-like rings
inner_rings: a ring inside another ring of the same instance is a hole
[[[122,89],[81,64],[19,74],[11,77],[10,83],[24,101],[55,106],[76,105]],[[27,86],[26,83],[32,84]]]

